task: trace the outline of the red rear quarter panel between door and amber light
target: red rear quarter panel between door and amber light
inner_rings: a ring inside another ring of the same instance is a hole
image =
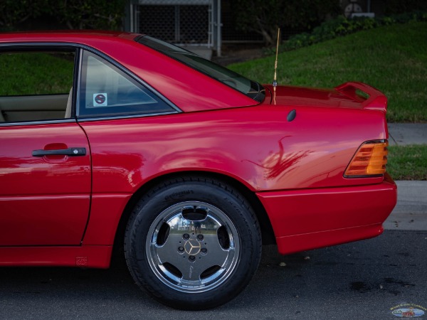
[[[343,173],[360,144],[386,139],[382,112],[295,107],[297,116],[288,122],[291,110],[259,105],[80,122],[93,160],[83,244],[112,245],[132,194],[166,174],[215,172],[258,194],[381,183],[383,178],[346,179]]]

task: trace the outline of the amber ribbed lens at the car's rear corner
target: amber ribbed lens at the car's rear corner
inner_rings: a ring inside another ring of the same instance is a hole
[[[344,173],[347,178],[380,176],[386,172],[389,142],[365,142],[357,150]]]

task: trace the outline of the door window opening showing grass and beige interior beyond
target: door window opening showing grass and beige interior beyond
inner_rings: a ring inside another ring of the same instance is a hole
[[[64,119],[74,58],[74,49],[0,51],[0,122]]]

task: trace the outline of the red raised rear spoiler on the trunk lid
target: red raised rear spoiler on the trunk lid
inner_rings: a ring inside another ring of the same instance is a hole
[[[346,95],[350,99],[360,102],[364,109],[369,110],[379,110],[387,112],[387,97],[379,90],[371,87],[362,82],[345,82],[338,87],[335,87],[335,90],[341,92],[343,95]],[[367,99],[357,94],[357,90],[361,90],[365,94],[369,95]]]

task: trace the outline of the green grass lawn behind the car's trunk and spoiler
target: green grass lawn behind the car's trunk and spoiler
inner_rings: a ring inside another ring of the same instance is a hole
[[[273,82],[275,56],[228,65]],[[280,53],[278,83],[335,87],[360,81],[389,98],[389,122],[427,122],[427,22],[384,26]]]

